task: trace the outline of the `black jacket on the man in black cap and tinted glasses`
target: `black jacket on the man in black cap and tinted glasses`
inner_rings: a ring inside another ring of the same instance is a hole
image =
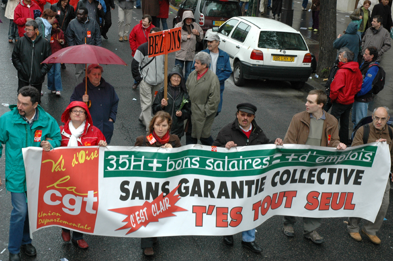
[[[225,144],[229,141],[233,141],[239,147],[274,143],[274,140],[269,141],[263,130],[256,125],[255,120],[251,124],[253,125],[253,129],[251,130],[250,138],[247,138],[246,134],[240,129],[239,122],[236,118],[233,123],[229,123],[220,130],[212,146],[225,147]]]

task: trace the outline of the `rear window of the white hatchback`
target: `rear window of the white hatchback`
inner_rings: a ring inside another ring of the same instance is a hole
[[[261,31],[258,48],[307,51],[307,45],[298,33]]]

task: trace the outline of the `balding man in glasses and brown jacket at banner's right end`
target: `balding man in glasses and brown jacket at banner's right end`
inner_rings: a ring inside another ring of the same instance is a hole
[[[393,128],[388,126],[389,120],[389,109],[387,107],[378,107],[374,109],[372,113],[372,122],[367,126],[362,126],[356,131],[355,137],[352,142],[352,146],[359,146],[365,144],[363,139],[367,140],[368,143],[372,142],[387,142],[389,144],[390,157],[392,159],[391,170],[393,169],[393,151],[392,151],[392,133]],[[368,137],[367,131],[368,129]],[[390,130],[389,130],[390,129]],[[386,177],[388,178],[389,173],[386,173]],[[389,206],[389,191],[390,191],[390,182],[389,178],[387,179],[388,183],[386,184],[385,194],[382,199],[381,207],[378,211],[377,217],[375,218],[375,222],[372,223],[368,220],[363,220],[363,228],[362,233],[368,236],[371,242],[379,245],[381,243],[381,239],[378,238],[375,234],[379,231],[382,226],[384,217],[386,212],[388,211]],[[359,222],[361,218],[359,217],[350,217],[348,218],[348,233],[349,235],[355,239],[356,241],[362,241],[362,237],[359,234]]]

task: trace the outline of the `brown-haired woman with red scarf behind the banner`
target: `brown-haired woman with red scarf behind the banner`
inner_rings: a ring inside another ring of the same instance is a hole
[[[135,146],[139,147],[162,147],[162,148],[178,148],[181,147],[179,137],[169,134],[172,119],[168,112],[160,110],[150,121],[149,133],[147,136],[139,136],[135,142]],[[157,237],[141,238],[140,248],[146,256],[154,255],[153,243],[157,241]]]

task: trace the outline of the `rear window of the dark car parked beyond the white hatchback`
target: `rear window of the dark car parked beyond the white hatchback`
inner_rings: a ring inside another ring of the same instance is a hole
[[[237,2],[205,0],[203,14],[210,17],[234,17],[242,13]]]

